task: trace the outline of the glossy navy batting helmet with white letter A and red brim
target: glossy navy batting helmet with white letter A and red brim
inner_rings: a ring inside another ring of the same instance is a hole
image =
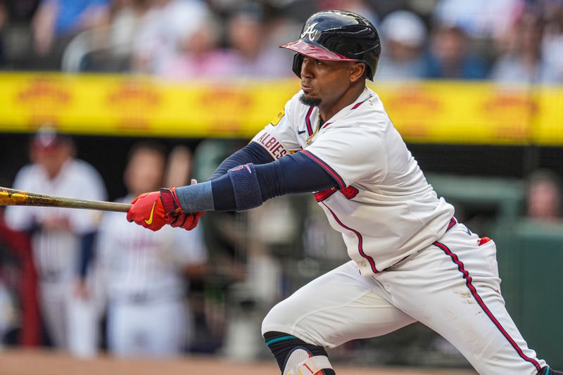
[[[297,52],[293,72],[301,77],[303,55],[319,60],[360,61],[367,77],[374,79],[381,54],[379,35],[374,25],[361,15],[348,11],[320,11],[309,17],[301,38],[281,48]]]

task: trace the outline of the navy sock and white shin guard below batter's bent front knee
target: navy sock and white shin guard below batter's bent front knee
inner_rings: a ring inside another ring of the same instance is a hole
[[[282,375],[335,375],[324,348],[284,332],[264,333]]]

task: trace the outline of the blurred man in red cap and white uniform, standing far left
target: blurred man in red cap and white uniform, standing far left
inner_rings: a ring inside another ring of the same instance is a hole
[[[43,128],[30,144],[32,164],[23,167],[13,186],[25,191],[72,198],[103,200],[106,188],[99,173],[74,158],[67,136]],[[49,337],[58,348],[82,354],[92,352],[97,338],[87,335],[94,306],[86,295],[87,259],[92,252],[98,214],[58,207],[10,206],[6,222],[30,231],[32,253],[39,277],[39,305]]]

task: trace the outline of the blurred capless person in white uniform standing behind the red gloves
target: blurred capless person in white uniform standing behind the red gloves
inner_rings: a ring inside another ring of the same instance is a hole
[[[155,144],[137,144],[125,170],[129,202],[162,184],[165,154]],[[103,217],[96,246],[108,295],[108,345],[118,356],[178,355],[191,327],[184,275],[201,276],[206,250],[199,229],[172,227],[151,233],[131,226],[120,212]]]

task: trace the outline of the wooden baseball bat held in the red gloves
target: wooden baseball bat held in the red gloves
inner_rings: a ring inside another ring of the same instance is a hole
[[[86,208],[88,210],[127,212],[131,207],[127,203],[89,201],[87,199],[48,196],[0,187],[0,205],[42,205],[49,207]]]

